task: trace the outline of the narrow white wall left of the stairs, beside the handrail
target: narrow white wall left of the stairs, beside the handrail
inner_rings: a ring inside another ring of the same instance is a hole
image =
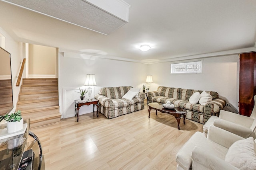
[[[11,66],[12,66],[12,92],[13,92],[13,104],[14,104],[14,111],[16,109],[16,104],[18,101],[18,94],[20,92],[20,86],[16,87],[16,82],[20,66],[22,62],[22,43],[17,43],[8,35],[1,27],[0,27],[0,34],[5,37],[4,47],[6,51],[11,54]],[[25,75],[25,74],[23,74]],[[12,112],[11,111],[11,112]]]

